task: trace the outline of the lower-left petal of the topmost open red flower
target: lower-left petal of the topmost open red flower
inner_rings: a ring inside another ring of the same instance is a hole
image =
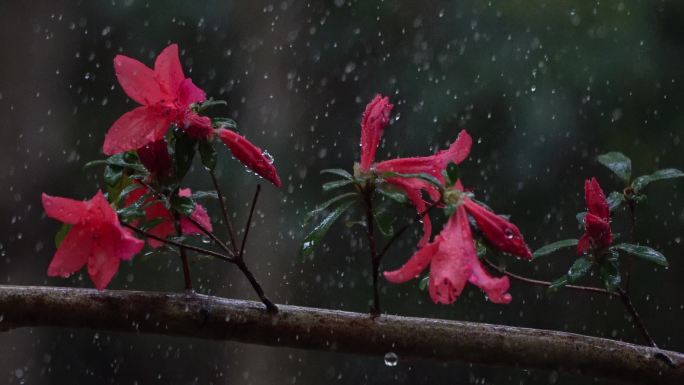
[[[102,151],[106,155],[137,150],[161,140],[174,116],[159,107],[138,107],[123,114],[105,135]]]

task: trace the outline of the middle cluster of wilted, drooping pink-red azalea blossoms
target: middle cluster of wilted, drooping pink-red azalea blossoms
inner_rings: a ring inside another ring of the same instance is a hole
[[[444,184],[444,172],[449,163],[459,164],[470,154],[473,141],[468,132],[462,130],[448,149],[432,156],[398,158],[373,163],[380,137],[389,123],[392,107],[387,97],[380,95],[366,107],[361,120],[359,172],[375,172],[378,175],[386,172],[428,174]],[[490,276],[478,259],[468,214],[475,219],[480,231],[492,246],[512,255],[531,259],[532,253],[514,224],[472,200],[460,180],[444,193],[435,185],[420,178],[389,177],[386,181],[404,191],[419,213],[424,212],[428,204],[439,202],[440,199],[456,207],[442,231],[432,242],[429,242],[432,233],[430,218],[427,215],[423,217],[423,237],[418,243],[418,251],[398,270],[385,272],[388,281],[401,283],[418,278],[419,274],[430,266],[428,288],[435,303],[453,303],[467,282],[481,288],[492,302],[511,301],[511,296],[507,293],[508,277]],[[423,199],[423,192],[432,202]]]

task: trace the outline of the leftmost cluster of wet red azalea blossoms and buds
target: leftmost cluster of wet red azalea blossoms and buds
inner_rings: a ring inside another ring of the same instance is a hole
[[[123,55],[114,58],[114,68],[126,95],[140,106],[114,122],[105,136],[102,148],[105,154],[136,151],[149,171],[148,178],[163,180],[173,172],[166,137],[170,129],[180,129],[197,140],[212,141],[218,137],[245,166],[274,185],[281,186],[272,159],[261,149],[236,132],[213,124],[209,117],[197,113],[196,106],[206,101],[207,96],[190,78],[185,77],[176,44],[166,47],[157,56],[154,68]],[[150,204],[144,205],[145,219],[157,220],[158,223],[148,232],[165,239],[175,233],[173,215],[163,203],[151,202],[153,198],[146,186],[141,183],[131,191],[124,207],[144,195],[150,196]],[[187,197],[190,190],[180,189],[178,195]],[[122,226],[116,211],[101,191],[88,201],[46,194],[43,194],[42,201],[47,216],[71,225],[48,267],[49,276],[68,276],[87,265],[95,287],[101,290],[111,281],[120,261],[130,260],[143,248],[144,242]],[[211,220],[200,205],[195,205],[189,218],[180,219],[181,232],[199,234],[195,223],[211,231]],[[159,247],[161,242],[150,238],[149,244]]]

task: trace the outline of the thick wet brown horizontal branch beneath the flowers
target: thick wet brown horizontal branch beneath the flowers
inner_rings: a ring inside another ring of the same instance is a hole
[[[199,294],[2,286],[0,330],[57,326],[559,370],[684,384],[684,355],[603,338],[473,322],[278,305]],[[676,367],[665,364],[666,355]]]

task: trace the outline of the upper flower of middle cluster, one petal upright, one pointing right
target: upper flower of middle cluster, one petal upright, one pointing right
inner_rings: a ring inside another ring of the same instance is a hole
[[[361,163],[359,164],[359,171],[367,173],[374,169],[379,173],[388,171],[401,174],[426,173],[444,183],[442,171],[447,165],[450,162],[459,164],[468,157],[472,145],[470,135],[465,130],[462,130],[448,149],[442,150],[435,155],[398,158],[373,164],[380,138],[389,123],[389,115],[392,112],[392,108],[393,105],[389,103],[389,99],[381,95],[376,95],[366,106],[361,119]],[[404,190],[418,213],[422,213],[427,209],[427,204],[423,200],[423,192],[426,192],[433,201],[437,201],[440,198],[439,190],[422,179],[388,178],[387,182]],[[425,216],[423,217],[423,237],[419,241],[418,246],[423,246],[429,241],[431,233],[432,224],[430,218]]]

